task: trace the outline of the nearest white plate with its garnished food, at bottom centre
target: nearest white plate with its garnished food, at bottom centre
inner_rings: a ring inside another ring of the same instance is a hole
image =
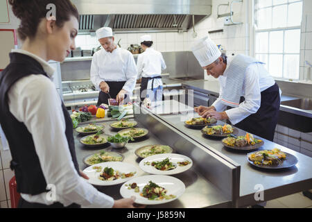
[[[135,196],[135,203],[157,205],[168,203],[184,194],[184,183],[166,175],[141,176],[128,180],[120,189],[123,198]]]

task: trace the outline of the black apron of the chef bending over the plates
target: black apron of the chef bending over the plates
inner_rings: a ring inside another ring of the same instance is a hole
[[[243,103],[245,98],[241,98]],[[261,92],[261,106],[255,114],[251,114],[235,126],[264,139],[273,141],[277,119],[279,117],[279,106],[281,98],[277,83]]]

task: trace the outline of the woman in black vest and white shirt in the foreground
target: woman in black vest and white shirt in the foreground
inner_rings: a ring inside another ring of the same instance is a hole
[[[12,154],[19,207],[134,207],[133,198],[114,200],[85,180],[71,117],[51,80],[55,70],[47,61],[62,62],[75,49],[78,10],[69,0],[8,2],[21,21],[22,46],[12,50],[0,74],[0,123]],[[46,18],[49,3],[56,17]]]

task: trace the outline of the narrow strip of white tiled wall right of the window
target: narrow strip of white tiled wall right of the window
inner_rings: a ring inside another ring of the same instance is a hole
[[[312,64],[312,1],[304,0],[304,12],[302,17],[300,48],[300,79],[312,80],[311,67],[305,61]],[[312,81],[311,81],[312,83]]]

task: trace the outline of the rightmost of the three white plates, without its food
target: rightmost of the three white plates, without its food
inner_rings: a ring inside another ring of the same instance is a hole
[[[175,165],[175,169],[171,169],[169,171],[161,171],[159,169],[156,169],[152,165],[146,165],[144,164],[145,162],[160,162],[166,158],[169,158],[169,161],[172,162]],[[187,166],[180,167],[177,162],[184,162],[184,161],[189,161],[191,162],[190,164],[187,164]],[[151,155],[149,157],[144,158],[141,160],[139,163],[139,167],[145,171],[146,173],[151,173],[151,174],[159,174],[159,175],[173,175],[177,173],[182,173],[184,171],[187,171],[193,166],[193,161],[191,158],[185,156],[185,155],[180,155],[177,153],[163,153],[163,154],[157,154],[157,155]]]

